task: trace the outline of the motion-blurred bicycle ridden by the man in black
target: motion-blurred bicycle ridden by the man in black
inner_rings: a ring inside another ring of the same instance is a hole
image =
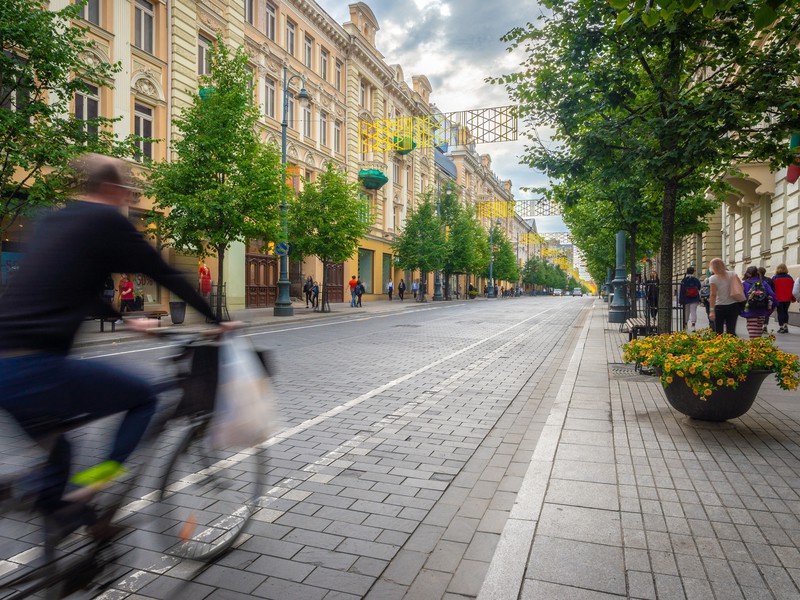
[[[261,447],[222,451],[211,447],[208,433],[224,342],[207,338],[191,335],[179,343],[177,354],[166,357],[173,373],[157,387],[160,394],[177,390],[179,397],[171,403],[167,399],[171,405],[154,418],[140,447],[140,452],[149,451],[154,457],[149,463],[134,464],[127,476],[93,498],[94,524],[65,532],[54,531],[50,515],[24,519],[31,532],[44,533],[44,544],[28,539],[21,551],[12,548],[12,556],[5,552],[0,556],[2,600],[21,600],[39,592],[45,592],[47,600],[82,590],[100,592],[120,578],[120,569],[111,565],[128,546],[211,562],[237,542],[261,508],[267,457]],[[256,352],[269,376],[268,353]],[[86,423],[77,419],[59,424],[48,435],[55,437]],[[148,483],[153,489],[131,501],[132,490]],[[38,560],[24,564],[30,553],[38,554]]]

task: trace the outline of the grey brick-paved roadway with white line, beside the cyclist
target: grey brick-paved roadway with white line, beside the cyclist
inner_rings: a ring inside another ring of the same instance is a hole
[[[138,550],[103,597],[474,596],[591,301],[344,307],[248,330],[276,366],[264,508],[202,573]],[[80,356],[155,377],[173,346],[148,339]],[[112,425],[77,436],[77,462],[102,451]]]

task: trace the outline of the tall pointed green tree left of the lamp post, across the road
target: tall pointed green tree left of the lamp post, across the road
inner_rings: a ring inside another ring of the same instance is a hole
[[[231,52],[217,37],[210,73],[200,78],[209,93],[195,95],[175,118],[181,135],[171,162],[153,166],[148,191],[161,242],[198,256],[217,256],[224,281],[225,251],[232,242],[278,240],[281,200],[289,190],[280,154],[256,130],[248,56]],[[222,294],[217,294],[217,316]]]

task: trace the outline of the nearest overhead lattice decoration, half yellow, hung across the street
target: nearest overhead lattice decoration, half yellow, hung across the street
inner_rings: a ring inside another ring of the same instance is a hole
[[[517,139],[514,106],[360,121],[363,151],[406,154],[414,147],[466,146]]]

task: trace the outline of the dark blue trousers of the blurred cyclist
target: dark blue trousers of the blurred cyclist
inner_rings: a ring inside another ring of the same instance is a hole
[[[124,412],[108,459],[124,462],[155,412],[156,394],[141,377],[93,360],[56,354],[0,358],[0,408],[50,451],[37,484],[37,504],[60,501],[70,475],[71,451],[63,435],[48,434],[70,420],[94,420]]]

